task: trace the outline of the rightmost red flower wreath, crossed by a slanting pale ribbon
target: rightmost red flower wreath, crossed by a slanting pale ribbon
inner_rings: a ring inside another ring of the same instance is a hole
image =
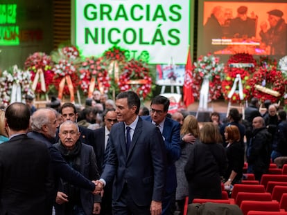
[[[252,86],[252,96],[257,97],[261,101],[270,100],[271,102],[277,102],[284,95],[286,80],[281,71],[277,71],[276,66],[267,65],[260,66],[248,84]],[[256,88],[256,84],[259,87]],[[262,89],[260,90],[260,88]],[[266,89],[276,91],[280,95],[271,95]]]

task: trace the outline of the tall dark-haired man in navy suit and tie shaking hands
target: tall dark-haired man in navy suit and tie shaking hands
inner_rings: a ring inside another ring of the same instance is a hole
[[[116,96],[119,123],[110,132],[110,155],[96,183],[113,184],[113,214],[162,213],[166,179],[166,150],[153,124],[139,118],[139,96],[126,91]]]

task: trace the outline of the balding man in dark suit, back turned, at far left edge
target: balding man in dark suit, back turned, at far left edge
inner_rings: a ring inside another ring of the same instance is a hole
[[[49,151],[26,135],[26,104],[10,104],[5,117],[10,140],[0,144],[0,214],[45,214],[51,189]]]

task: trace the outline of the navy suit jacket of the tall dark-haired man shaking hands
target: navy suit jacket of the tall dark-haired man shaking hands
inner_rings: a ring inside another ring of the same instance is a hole
[[[124,185],[134,203],[150,205],[160,201],[166,179],[166,150],[162,134],[153,124],[139,118],[130,150],[125,151],[125,124],[116,123],[110,132],[110,156],[101,178],[107,183],[114,178],[113,200],[119,200]]]

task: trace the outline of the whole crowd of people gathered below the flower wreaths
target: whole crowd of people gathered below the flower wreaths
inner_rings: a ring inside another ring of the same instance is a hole
[[[270,159],[287,156],[286,112],[252,98],[245,115],[230,109],[198,122],[168,113],[168,98],[150,108],[127,91],[99,91],[85,106],[33,98],[0,110],[0,214],[180,214],[189,198],[221,198],[221,186],[260,180]],[[243,120],[244,119],[244,120]]]

